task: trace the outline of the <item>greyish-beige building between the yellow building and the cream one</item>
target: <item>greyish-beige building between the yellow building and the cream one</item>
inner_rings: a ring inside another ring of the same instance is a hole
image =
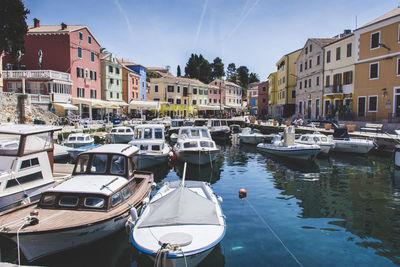
[[[323,47],[333,41],[334,38],[308,39],[296,60],[296,113],[303,118],[316,119],[322,115]]]

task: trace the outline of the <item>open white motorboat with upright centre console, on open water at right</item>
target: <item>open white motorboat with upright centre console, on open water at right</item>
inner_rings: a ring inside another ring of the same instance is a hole
[[[257,149],[274,156],[305,161],[314,161],[321,151],[319,145],[295,144],[293,126],[285,129],[283,141],[276,135],[271,144],[260,143]]]

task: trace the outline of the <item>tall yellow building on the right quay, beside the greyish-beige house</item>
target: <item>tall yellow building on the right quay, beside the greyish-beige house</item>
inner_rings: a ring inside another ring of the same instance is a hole
[[[284,55],[277,63],[276,116],[288,118],[296,111],[296,60],[302,49]]]

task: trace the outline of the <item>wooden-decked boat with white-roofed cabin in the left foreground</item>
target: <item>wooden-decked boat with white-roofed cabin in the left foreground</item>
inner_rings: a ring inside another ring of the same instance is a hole
[[[103,238],[124,227],[149,196],[153,174],[135,171],[134,146],[103,145],[79,155],[73,178],[40,200],[0,216],[0,236],[28,261]]]

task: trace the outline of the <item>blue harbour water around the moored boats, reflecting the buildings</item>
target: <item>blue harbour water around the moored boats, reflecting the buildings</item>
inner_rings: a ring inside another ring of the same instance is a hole
[[[400,264],[400,172],[391,155],[335,154],[305,164],[252,146],[220,148],[212,166],[187,172],[187,179],[211,182],[226,215],[226,235],[201,266]],[[160,185],[179,179],[182,166],[153,171]],[[153,266],[124,231],[34,264]]]

